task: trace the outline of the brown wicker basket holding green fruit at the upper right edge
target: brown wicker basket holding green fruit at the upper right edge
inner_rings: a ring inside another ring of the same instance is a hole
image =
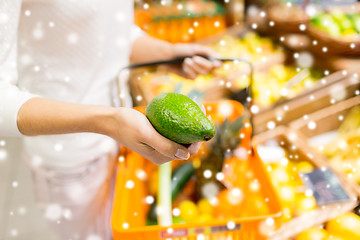
[[[310,45],[311,51],[317,55],[360,56],[360,40],[349,41],[331,37],[325,31],[311,25],[308,26],[308,34],[313,41],[317,42],[316,45]]]

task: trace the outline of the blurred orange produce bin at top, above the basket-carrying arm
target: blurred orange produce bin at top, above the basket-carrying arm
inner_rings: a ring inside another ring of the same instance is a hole
[[[173,43],[199,40],[225,30],[225,10],[214,1],[145,3],[135,9],[135,23],[150,36]]]

